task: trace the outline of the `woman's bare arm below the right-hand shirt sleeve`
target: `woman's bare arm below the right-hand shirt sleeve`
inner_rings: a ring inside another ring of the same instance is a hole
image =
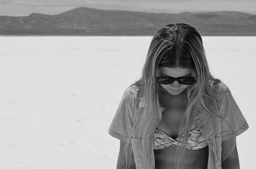
[[[236,144],[232,152],[227,156],[230,149],[232,149],[233,142],[234,140],[231,139],[221,143],[221,167],[223,169],[240,169]],[[223,159],[225,156],[227,158]]]

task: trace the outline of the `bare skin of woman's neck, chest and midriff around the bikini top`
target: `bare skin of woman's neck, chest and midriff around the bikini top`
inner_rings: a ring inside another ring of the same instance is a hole
[[[161,129],[166,135],[173,139],[182,135],[184,132],[184,124],[182,124],[182,118],[184,118],[184,112],[187,108],[188,100],[185,94],[179,96],[162,95],[159,97],[159,104],[164,107],[162,113],[161,122],[159,122],[157,128]],[[195,123],[191,128],[195,127]],[[156,168],[175,168],[175,153],[179,149],[178,145],[170,145],[164,149],[154,150]],[[207,168],[209,147],[198,150],[185,151],[184,168]],[[204,158],[202,158],[204,157]]]

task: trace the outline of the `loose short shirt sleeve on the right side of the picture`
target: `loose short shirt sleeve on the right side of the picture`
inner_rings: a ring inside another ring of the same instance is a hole
[[[235,136],[238,136],[246,131],[249,126],[227,86],[221,94],[221,101],[223,103],[220,107],[220,113],[226,120],[221,119],[221,140],[225,141],[234,136],[231,128],[234,129]]]

